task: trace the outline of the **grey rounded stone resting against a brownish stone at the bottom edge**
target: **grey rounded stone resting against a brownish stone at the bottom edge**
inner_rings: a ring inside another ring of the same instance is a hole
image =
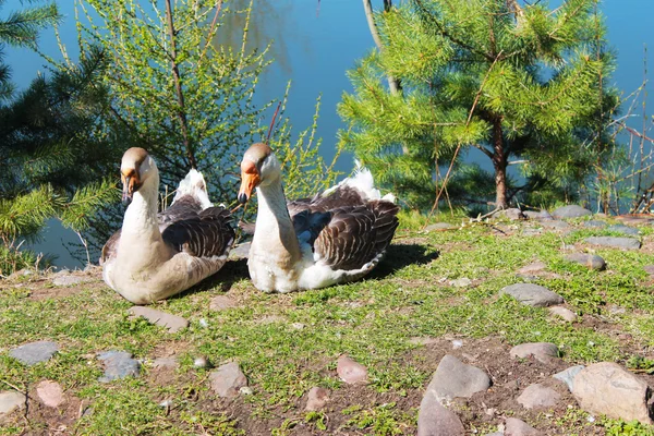
[[[440,401],[449,401],[457,397],[470,398],[488,387],[491,378],[484,371],[446,354],[427,386],[427,392]]]

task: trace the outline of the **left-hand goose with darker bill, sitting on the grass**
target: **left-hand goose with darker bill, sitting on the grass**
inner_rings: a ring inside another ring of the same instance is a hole
[[[158,210],[159,172],[138,147],[121,161],[122,228],[102,247],[105,282],[134,304],[149,304],[182,292],[218,271],[231,249],[231,215],[214,207],[202,173],[192,169],[169,208]]]

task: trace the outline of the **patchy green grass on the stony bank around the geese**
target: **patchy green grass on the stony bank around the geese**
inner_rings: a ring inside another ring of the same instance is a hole
[[[434,364],[416,358],[423,346],[411,340],[415,337],[491,337],[509,346],[550,341],[570,364],[615,361],[650,368],[651,361],[633,350],[654,341],[654,295],[643,270],[654,264],[652,253],[586,247],[609,265],[606,271],[594,271],[565,261],[565,246],[582,244],[589,235],[613,234],[604,229],[577,226],[568,234],[543,231],[526,237],[521,225],[510,222],[428,233],[421,230],[422,223],[405,216],[379,271],[361,282],[280,295],[262,293],[240,276],[229,290],[239,307],[208,310],[210,299],[221,293],[219,283],[157,304],[191,322],[178,334],[130,318],[130,303],[97,283],[40,300],[29,296],[29,282],[21,288],[7,284],[0,290],[0,384],[7,386],[0,389],[11,385],[28,390],[39,380],[57,380],[90,410],[68,423],[70,433],[80,435],[246,434],[243,414],[210,392],[209,371],[193,366],[196,356],[206,355],[216,365],[240,363],[253,395],[239,401],[267,428],[262,434],[291,435],[300,427],[330,434],[338,423],[341,433],[400,435],[415,433],[421,392],[434,370]],[[642,233],[646,239],[652,230]],[[550,272],[534,282],[605,328],[553,319],[546,308],[498,296],[502,287],[521,281],[517,270],[534,261],[545,263]],[[473,284],[450,284],[460,278]],[[611,331],[631,335],[631,344]],[[35,340],[57,341],[61,351],[31,367],[9,356],[11,348]],[[95,355],[110,349],[133,353],[144,363],[142,375],[99,383],[102,370]],[[148,362],[164,350],[172,350],[180,365],[171,379],[157,384]],[[370,386],[356,390],[363,398],[351,398],[338,412],[303,412],[302,398],[313,386],[347,389],[335,371],[343,353],[370,371]],[[172,408],[159,405],[168,398],[173,399]],[[380,398],[388,401],[379,403]],[[590,424],[579,416],[581,411],[552,421],[566,434],[589,425],[607,435],[652,434],[647,426],[610,420]],[[46,427],[37,419],[16,420],[0,428],[0,435],[47,434]],[[632,433],[615,433],[616,428]]]

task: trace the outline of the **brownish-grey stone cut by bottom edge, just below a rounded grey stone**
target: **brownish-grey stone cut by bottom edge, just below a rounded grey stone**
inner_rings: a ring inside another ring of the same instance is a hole
[[[457,414],[446,409],[427,390],[417,412],[417,436],[463,436],[465,429]]]

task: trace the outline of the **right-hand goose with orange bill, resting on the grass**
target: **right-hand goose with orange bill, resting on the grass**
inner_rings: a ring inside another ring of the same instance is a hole
[[[247,268],[265,292],[358,280],[379,263],[398,227],[395,196],[382,197],[365,168],[311,198],[287,203],[279,160],[268,145],[256,143],[241,161],[239,202],[246,203],[255,189]]]

